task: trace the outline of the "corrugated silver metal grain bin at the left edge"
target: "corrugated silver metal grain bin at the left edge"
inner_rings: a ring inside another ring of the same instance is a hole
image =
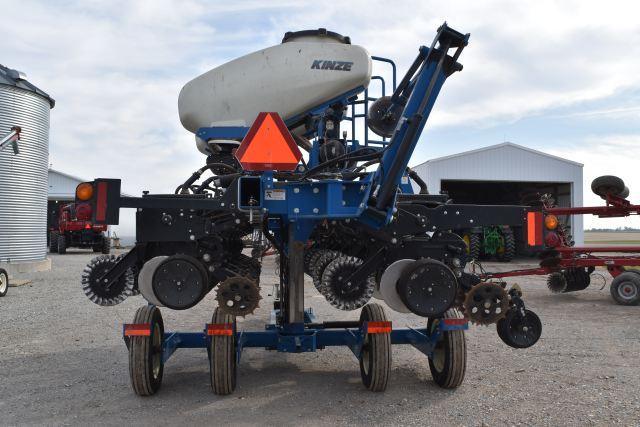
[[[20,153],[0,152],[0,267],[42,270],[47,260],[49,111],[55,102],[19,71],[0,65],[0,135],[22,128]]]

